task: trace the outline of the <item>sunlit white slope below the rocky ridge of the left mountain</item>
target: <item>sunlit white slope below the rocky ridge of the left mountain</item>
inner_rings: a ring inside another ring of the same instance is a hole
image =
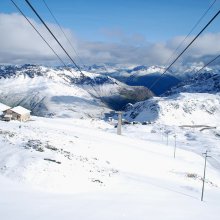
[[[0,80],[1,100],[10,106],[22,105],[34,115],[58,117],[97,117],[107,111],[105,105],[88,92],[65,82],[43,76],[19,76]]]

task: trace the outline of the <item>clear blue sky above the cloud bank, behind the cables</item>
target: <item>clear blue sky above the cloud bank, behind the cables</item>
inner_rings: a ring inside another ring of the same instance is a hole
[[[213,2],[213,0],[45,1],[62,26],[70,28],[81,38],[95,41],[115,41],[117,35],[120,35],[119,32],[128,36],[140,34],[148,41],[164,41],[185,35]],[[24,1],[15,0],[15,2],[27,15],[34,17]],[[30,2],[45,20],[53,22],[42,0]],[[0,6],[1,12],[17,12],[9,0],[1,1]],[[205,24],[219,8],[218,0],[201,25]],[[208,31],[219,31],[219,23],[216,20]]]

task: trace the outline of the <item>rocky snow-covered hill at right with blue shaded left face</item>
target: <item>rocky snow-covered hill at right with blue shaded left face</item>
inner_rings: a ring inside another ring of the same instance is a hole
[[[127,120],[167,125],[211,125],[220,121],[220,94],[179,93],[130,105]]]

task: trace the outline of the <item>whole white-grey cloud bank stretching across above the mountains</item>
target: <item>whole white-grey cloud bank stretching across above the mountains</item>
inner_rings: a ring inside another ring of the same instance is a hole
[[[70,63],[66,55],[49,35],[43,25],[34,20],[31,22],[47,39],[56,52]],[[71,50],[67,40],[54,24],[48,24],[57,38],[62,42],[72,57],[79,63],[74,52]],[[104,30],[103,33],[111,36],[116,42],[91,42],[82,41],[74,34],[65,29],[65,33],[71,40],[76,51],[85,64],[92,63],[133,63],[146,65],[164,65],[175,48],[184,39],[183,36],[175,37],[165,43],[149,43],[142,35],[136,34],[127,36],[125,33],[116,30]],[[192,38],[188,39],[191,40]],[[182,62],[206,61],[207,58],[220,53],[220,33],[204,34],[196,40],[181,59]],[[185,42],[186,44],[187,42]],[[182,47],[184,48],[184,47]],[[180,49],[181,51],[182,49]],[[180,52],[179,51],[179,52]],[[174,56],[175,57],[175,56]],[[170,60],[171,62],[171,60]],[[0,63],[1,64],[23,64],[43,63],[60,64],[59,60],[36,34],[27,21],[18,14],[0,14]]]

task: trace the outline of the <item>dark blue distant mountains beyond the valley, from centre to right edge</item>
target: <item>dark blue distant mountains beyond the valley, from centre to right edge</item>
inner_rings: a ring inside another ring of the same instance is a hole
[[[166,72],[152,91],[156,95],[161,95],[169,90],[173,93],[178,92],[210,92],[219,91],[218,82],[220,67],[206,67],[197,73],[203,67],[203,63],[193,63],[185,66],[179,66]],[[100,73],[111,76],[121,82],[131,86],[145,86],[150,88],[161,74],[165,71],[165,66],[136,66],[136,65],[92,65],[84,67],[93,73]],[[211,85],[215,84],[215,88]],[[184,88],[185,86],[185,88]],[[211,86],[211,87],[210,87]],[[191,88],[189,88],[191,87]],[[178,89],[180,88],[180,89]]]

